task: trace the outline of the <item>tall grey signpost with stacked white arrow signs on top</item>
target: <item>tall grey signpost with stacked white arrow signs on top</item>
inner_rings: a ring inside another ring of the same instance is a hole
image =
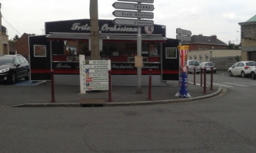
[[[154,21],[151,20],[141,20],[141,18],[154,18],[154,14],[151,12],[144,11],[154,11],[154,5],[145,5],[141,3],[153,3],[154,0],[118,0],[122,2],[115,2],[113,4],[114,8],[125,9],[125,10],[136,10],[136,11],[114,11],[113,15],[115,18],[114,24],[118,25],[131,25],[138,26],[137,34],[137,56],[141,58],[141,26],[154,26]],[[130,2],[130,3],[125,3]],[[137,3],[134,3],[137,2]],[[125,19],[125,18],[136,18],[136,19]],[[137,67],[137,93],[141,92],[141,67]]]

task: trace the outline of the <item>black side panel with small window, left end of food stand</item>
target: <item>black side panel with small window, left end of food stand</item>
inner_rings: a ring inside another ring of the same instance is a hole
[[[31,80],[51,80],[50,41],[45,35],[29,37]]]

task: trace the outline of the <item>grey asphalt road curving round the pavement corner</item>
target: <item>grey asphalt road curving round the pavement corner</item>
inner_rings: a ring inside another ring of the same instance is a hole
[[[227,91],[196,102],[2,107],[0,152],[255,152],[255,80],[224,73],[214,78],[229,85]]]

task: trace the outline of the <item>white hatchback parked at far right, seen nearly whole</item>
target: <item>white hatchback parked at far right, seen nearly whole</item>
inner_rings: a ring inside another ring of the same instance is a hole
[[[228,75],[232,76],[241,76],[246,77],[251,75],[251,69],[256,66],[256,62],[254,61],[240,61],[238,63],[234,63],[232,67],[228,69]]]

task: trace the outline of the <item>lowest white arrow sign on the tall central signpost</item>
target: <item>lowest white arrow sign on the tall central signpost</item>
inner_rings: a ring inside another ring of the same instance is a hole
[[[118,25],[133,25],[133,26],[152,26],[154,21],[151,20],[136,20],[136,19],[125,19],[125,18],[115,18],[114,24]]]

